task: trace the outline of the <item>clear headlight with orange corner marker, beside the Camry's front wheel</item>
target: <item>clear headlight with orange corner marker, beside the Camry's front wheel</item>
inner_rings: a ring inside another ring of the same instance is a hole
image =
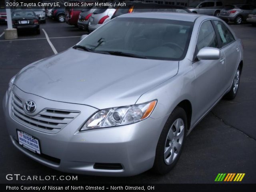
[[[82,126],[80,131],[93,128],[106,128],[132,124],[142,121],[150,116],[156,106],[156,100],[143,104],[136,104],[124,107],[114,107],[96,112]]]

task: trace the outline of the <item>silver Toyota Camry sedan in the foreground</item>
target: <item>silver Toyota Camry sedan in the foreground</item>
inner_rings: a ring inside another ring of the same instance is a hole
[[[165,174],[196,124],[235,98],[242,67],[241,40],[216,17],[125,14],[10,80],[8,133],[63,172]]]

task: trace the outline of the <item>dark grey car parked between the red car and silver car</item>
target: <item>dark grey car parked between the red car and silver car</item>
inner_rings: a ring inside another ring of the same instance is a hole
[[[90,21],[90,18],[92,16],[92,13],[97,9],[96,6],[91,6],[88,8],[83,9],[78,17],[77,26],[80,29],[88,30],[88,24]]]

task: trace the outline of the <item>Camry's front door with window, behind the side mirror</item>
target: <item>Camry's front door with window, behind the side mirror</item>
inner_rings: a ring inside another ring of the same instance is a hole
[[[198,32],[193,68],[196,76],[196,119],[199,119],[224,94],[225,58],[221,51],[218,60],[198,60],[196,55],[204,47],[220,48],[219,40],[210,20],[204,21]]]

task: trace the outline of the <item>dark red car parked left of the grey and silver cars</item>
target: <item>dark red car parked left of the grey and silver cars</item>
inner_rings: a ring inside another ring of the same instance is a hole
[[[82,7],[82,6],[66,6],[66,9],[65,9],[66,23],[69,25],[77,26],[79,14],[84,8],[85,7]]]

